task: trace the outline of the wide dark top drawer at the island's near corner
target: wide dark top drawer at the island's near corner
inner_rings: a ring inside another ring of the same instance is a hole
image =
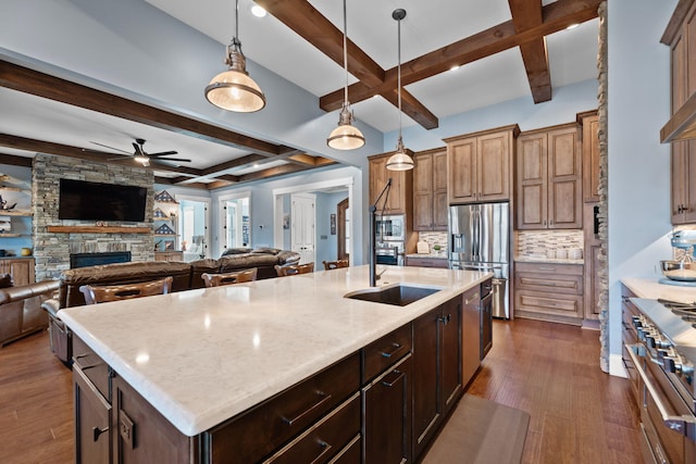
[[[356,352],[207,434],[212,462],[258,462],[360,389]]]

